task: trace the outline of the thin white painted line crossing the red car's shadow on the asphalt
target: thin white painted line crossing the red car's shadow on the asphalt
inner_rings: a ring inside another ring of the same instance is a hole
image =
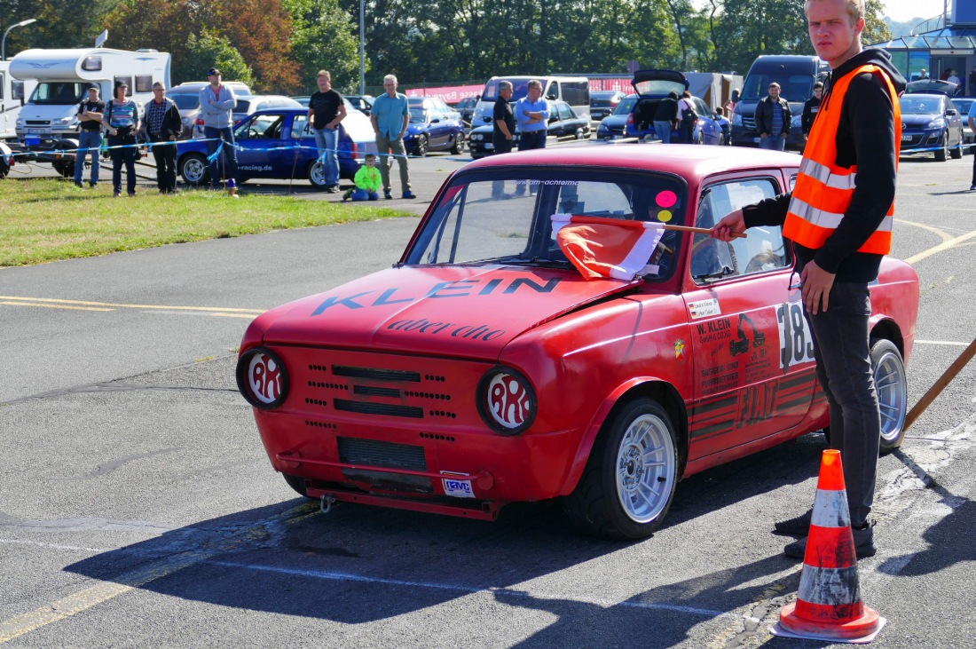
[[[557,599],[560,601],[572,601],[579,602],[581,604],[594,604],[597,606],[602,606],[604,608],[610,608],[612,606],[627,606],[630,608],[640,608],[647,610],[660,610],[660,611],[675,611],[677,613],[688,613],[691,615],[700,615],[708,618],[735,618],[740,619],[743,616],[736,613],[730,613],[727,611],[712,611],[706,608],[696,608],[694,606],[678,606],[676,604],[662,604],[658,602],[641,602],[641,601],[611,601],[607,599],[581,599],[579,597],[564,597],[564,596],[551,596],[542,595],[533,592],[528,592],[525,590],[514,590],[511,588],[478,588],[473,586],[463,586],[461,584],[443,584],[439,582],[413,582],[408,580],[400,579],[386,579],[383,577],[366,577],[363,575],[356,575],[353,573],[344,572],[334,572],[330,570],[306,570],[303,568],[286,568],[283,566],[269,566],[260,563],[240,563],[237,561],[222,561],[217,559],[207,559],[205,563],[215,566],[221,566],[222,568],[240,568],[244,570],[257,570],[260,572],[270,572],[277,573],[279,575],[290,575],[294,577],[308,577],[311,579],[319,579],[329,582],[359,582],[366,584],[382,584],[384,586],[403,586],[407,588],[431,588],[434,590],[450,590],[454,592],[464,592],[468,594],[475,593],[490,593],[490,594],[503,594],[510,597],[523,597],[531,599]]]

